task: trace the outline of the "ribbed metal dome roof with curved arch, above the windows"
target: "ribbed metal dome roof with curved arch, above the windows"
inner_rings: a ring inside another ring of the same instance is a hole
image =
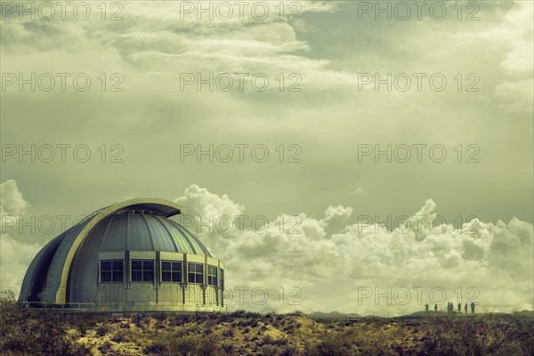
[[[135,198],[103,207],[49,241],[22,282],[20,298],[32,291],[50,294],[50,302],[65,303],[75,255],[117,250],[167,251],[211,257],[206,247],[179,223],[167,219],[182,206],[155,198]]]

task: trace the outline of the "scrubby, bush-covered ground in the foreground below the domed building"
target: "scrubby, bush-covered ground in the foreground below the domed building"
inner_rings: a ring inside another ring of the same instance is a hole
[[[300,312],[58,314],[4,302],[0,354],[530,355],[532,327],[527,311],[506,317],[312,320]]]

